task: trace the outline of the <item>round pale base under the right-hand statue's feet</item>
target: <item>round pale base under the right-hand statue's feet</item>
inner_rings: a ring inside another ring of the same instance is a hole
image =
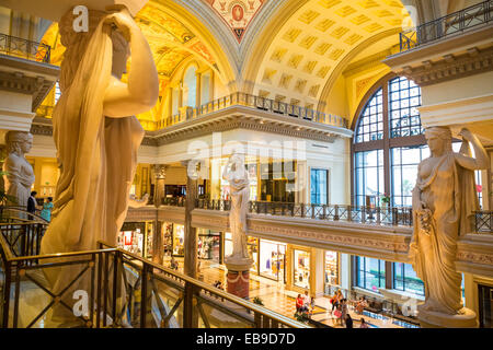
[[[472,310],[463,307],[459,315],[447,315],[417,306],[417,319],[422,328],[478,328],[478,317]]]

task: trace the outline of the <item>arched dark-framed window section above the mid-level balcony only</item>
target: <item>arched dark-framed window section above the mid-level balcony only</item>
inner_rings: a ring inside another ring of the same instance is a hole
[[[421,89],[404,77],[383,79],[360,108],[353,143],[356,206],[411,206],[417,164],[429,155],[417,107]]]

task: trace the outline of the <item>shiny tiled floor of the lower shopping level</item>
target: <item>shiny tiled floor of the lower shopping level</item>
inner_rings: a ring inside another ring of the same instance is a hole
[[[183,272],[183,259],[177,258],[179,271]],[[170,259],[164,260],[164,265],[169,266]],[[221,281],[222,285],[226,285],[226,268],[218,264],[210,264],[209,261],[202,261],[198,272],[198,278],[208,284],[214,284],[216,281]],[[270,280],[256,275],[250,275],[250,299],[259,296],[262,299],[264,306],[284,316],[294,318],[296,311],[295,295],[293,291],[284,289],[283,283]],[[336,323],[335,316],[332,315],[332,304],[326,298],[318,298],[316,300],[316,308],[313,311],[312,319],[321,322],[331,327],[341,328],[342,326]],[[400,325],[393,324],[393,319],[379,319],[379,315],[357,315],[349,307],[349,315],[352,316],[354,328],[358,328],[362,317],[369,325],[370,328],[403,328]]]

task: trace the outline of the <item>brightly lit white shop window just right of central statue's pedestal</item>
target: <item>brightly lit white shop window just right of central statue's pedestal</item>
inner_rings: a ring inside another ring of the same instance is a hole
[[[260,240],[259,275],[286,282],[286,244]]]

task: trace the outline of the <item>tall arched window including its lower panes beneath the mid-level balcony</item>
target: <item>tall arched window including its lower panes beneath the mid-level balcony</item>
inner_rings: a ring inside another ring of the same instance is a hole
[[[429,156],[420,105],[421,89],[406,78],[389,75],[371,89],[359,108],[352,144],[354,205],[380,206],[385,195],[391,206],[412,205],[417,164]],[[354,261],[359,288],[386,287],[424,295],[424,284],[411,265],[363,257]]]

